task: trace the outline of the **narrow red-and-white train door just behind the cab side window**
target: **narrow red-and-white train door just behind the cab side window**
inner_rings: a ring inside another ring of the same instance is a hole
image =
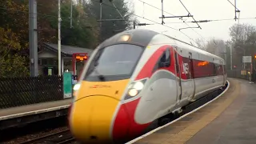
[[[179,66],[179,62],[178,62],[178,54],[176,52],[176,50],[174,50],[174,58],[175,58],[175,70],[176,70],[176,74],[178,76],[177,78],[177,102],[179,103],[180,100],[182,99],[182,74],[181,74],[181,70],[180,70],[180,66]]]

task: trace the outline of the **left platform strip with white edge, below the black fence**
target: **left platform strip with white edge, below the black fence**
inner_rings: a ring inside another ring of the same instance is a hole
[[[65,99],[61,101],[43,102],[33,105],[0,109],[0,121],[10,118],[24,117],[31,114],[40,114],[49,111],[65,109],[70,106],[71,102],[71,99]]]

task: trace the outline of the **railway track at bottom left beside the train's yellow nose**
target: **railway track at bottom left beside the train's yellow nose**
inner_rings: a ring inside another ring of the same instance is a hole
[[[18,144],[39,144],[39,143],[54,143],[54,144],[66,144],[75,142],[75,139],[70,134],[70,130],[62,130],[53,134],[46,134],[38,138],[29,139],[25,142],[19,142]]]

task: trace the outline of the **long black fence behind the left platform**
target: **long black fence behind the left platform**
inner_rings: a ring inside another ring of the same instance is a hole
[[[63,99],[62,77],[0,78],[0,109]]]

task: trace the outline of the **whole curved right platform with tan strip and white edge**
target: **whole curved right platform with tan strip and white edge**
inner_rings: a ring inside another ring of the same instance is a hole
[[[228,80],[226,93],[207,106],[128,143],[255,144],[256,85]]]

